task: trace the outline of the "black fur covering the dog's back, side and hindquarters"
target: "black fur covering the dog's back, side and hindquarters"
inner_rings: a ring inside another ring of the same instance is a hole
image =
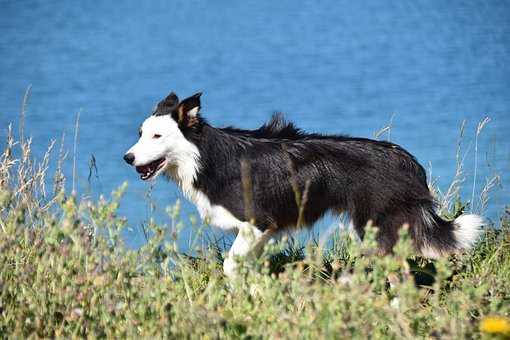
[[[435,213],[425,170],[396,144],[306,133],[281,114],[255,130],[215,128],[200,118],[183,133],[200,151],[194,186],[240,220],[246,220],[240,164],[249,164],[255,224],[261,230],[296,225],[291,183],[303,193],[309,181],[306,225],[328,211],[347,213],[360,237],[369,220],[379,228],[382,252],[391,251],[404,224],[417,249],[431,246],[446,253],[456,248],[453,224]]]

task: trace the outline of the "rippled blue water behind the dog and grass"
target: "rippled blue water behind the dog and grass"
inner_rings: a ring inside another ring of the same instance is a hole
[[[307,130],[372,137],[392,120],[391,140],[431,165],[443,191],[466,120],[467,200],[476,125],[489,116],[476,192],[501,175],[484,212],[496,220],[510,202],[509,19],[503,1],[0,1],[0,139],[29,85],[26,133],[37,155],[62,133],[72,154],[80,111],[79,192],[97,196],[128,181],[120,214],[137,247],[139,224],[149,215],[168,223],[164,208],[182,198],[160,180],[148,213],[148,184],[122,161],[170,90],[204,91],[214,125],[254,128],[280,110]],[[98,172],[89,181],[92,155]],[[183,202],[184,220],[194,213]]]

